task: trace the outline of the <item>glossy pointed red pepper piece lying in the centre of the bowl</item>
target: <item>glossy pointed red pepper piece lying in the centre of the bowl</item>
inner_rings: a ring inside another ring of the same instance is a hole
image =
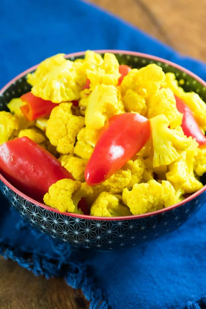
[[[90,186],[102,183],[145,145],[150,135],[149,120],[136,113],[112,116],[103,129],[85,168]]]

